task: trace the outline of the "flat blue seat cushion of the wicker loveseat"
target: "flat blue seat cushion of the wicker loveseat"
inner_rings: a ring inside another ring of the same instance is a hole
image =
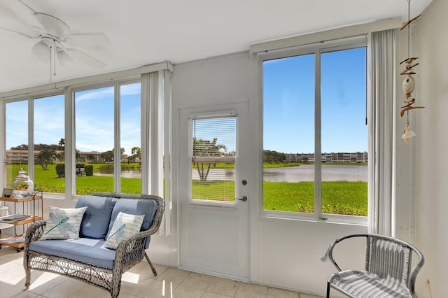
[[[104,248],[102,239],[38,240],[29,243],[29,249],[46,255],[65,257],[82,263],[113,269],[116,250]]]

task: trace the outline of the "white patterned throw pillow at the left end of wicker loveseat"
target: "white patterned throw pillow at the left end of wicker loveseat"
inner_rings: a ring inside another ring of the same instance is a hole
[[[78,239],[81,220],[87,207],[57,208],[50,206],[50,219],[40,240]]]

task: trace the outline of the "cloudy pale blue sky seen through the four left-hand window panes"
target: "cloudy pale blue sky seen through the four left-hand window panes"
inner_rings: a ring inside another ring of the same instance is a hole
[[[140,142],[140,83],[120,88],[121,147],[131,155]],[[113,149],[113,87],[76,92],[76,149]],[[6,148],[28,143],[27,101],[6,105]],[[34,100],[34,143],[57,144],[64,138],[64,96]]]

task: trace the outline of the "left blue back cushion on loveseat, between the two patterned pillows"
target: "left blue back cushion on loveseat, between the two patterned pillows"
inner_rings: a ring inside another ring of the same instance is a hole
[[[111,213],[118,199],[109,197],[83,196],[76,202],[76,208],[87,206],[81,221],[81,237],[105,239],[109,231]]]

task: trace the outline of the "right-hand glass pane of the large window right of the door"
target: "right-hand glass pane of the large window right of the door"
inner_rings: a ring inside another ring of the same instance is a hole
[[[322,213],[367,215],[365,88],[365,48],[321,55]]]

